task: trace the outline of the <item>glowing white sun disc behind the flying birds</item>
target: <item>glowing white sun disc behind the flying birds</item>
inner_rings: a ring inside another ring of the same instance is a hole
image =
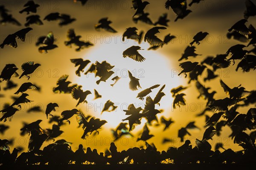
[[[122,52],[132,45],[138,45],[143,49],[139,53],[145,58],[145,61],[137,62],[129,57],[122,57]],[[136,107],[144,108],[145,99],[140,100],[136,96],[140,91],[156,84],[160,84],[160,87],[153,89],[149,94],[152,99],[154,99],[159,89],[166,85],[163,90],[166,96],[163,96],[160,106],[156,105],[156,108],[163,111],[172,108],[173,98],[170,90],[180,85],[181,80],[179,77],[172,76],[170,59],[157,50],[147,50],[149,46],[146,42],[138,44],[134,40],[122,42],[120,38],[120,40],[116,39],[108,43],[96,43],[90,50],[88,49],[84,56],[81,56],[83,59],[89,59],[91,63],[106,60],[111,65],[114,65],[112,69],[114,74],[106,82],[100,82],[99,85],[96,84],[99,77],[95,77],[94,74],[81,74],[81,77],[76,77],[75,81],[83,86],[83,90],[90,90],[92,92],[91,95],[87,96],[88,103],[84,105],[83,111],[85,115],[90,114],[99,119],[105,119],[108,122],[105,126],[115,128],[126,117],[123,110],[127,109],[128,105],[133,103]],[[91,63],[87,65],[85,70],[90,67]],[[139,88],[137,91],[129,89],[130,79],[128,77],[128,70],[133,76],[140,79],[141,89]],[[112,87],[111,84],[114,81],[111,79],[115,76],[121,77],[121,79]],[[94,89],[102,95],[102,98],[93,100]],[[117,108],[115,111],[103,112],[101,114],[104,104],[108,100],[114,102]]]

